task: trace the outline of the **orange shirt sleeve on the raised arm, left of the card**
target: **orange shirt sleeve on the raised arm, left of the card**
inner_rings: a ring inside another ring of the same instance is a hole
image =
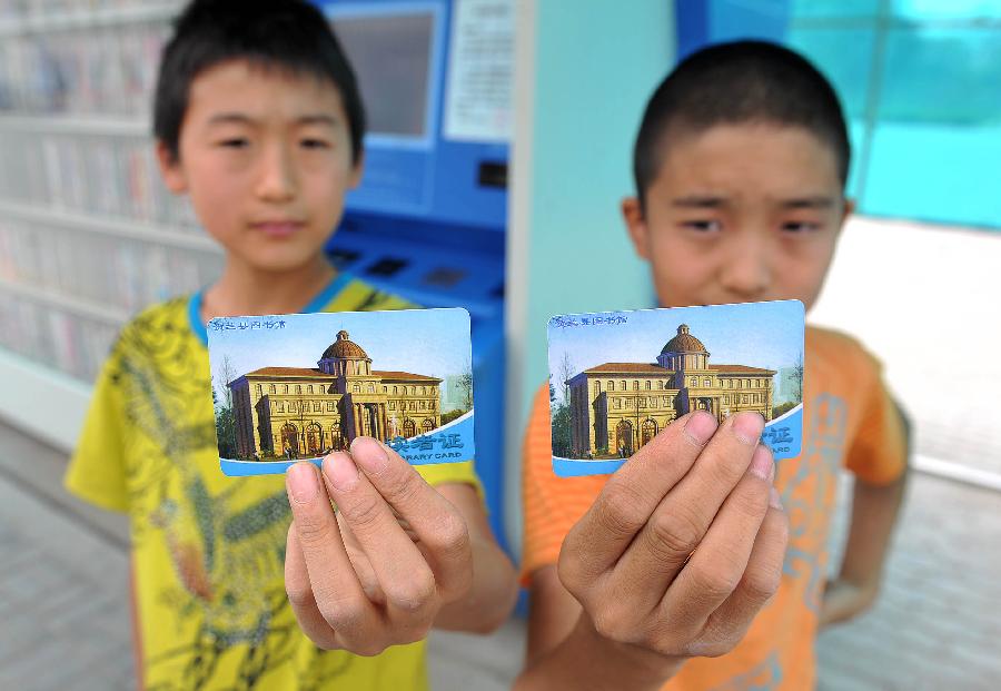
[[[564,537],[587,512],[605,480],[553,473],[548,386],[543,386],[532,406],[522,457],[523,585],[538,569],[556,564]]]

